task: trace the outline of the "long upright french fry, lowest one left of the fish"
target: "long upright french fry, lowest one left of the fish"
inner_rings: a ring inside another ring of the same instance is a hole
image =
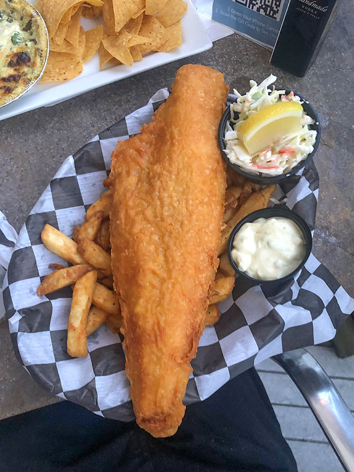
[[[71,357],[86,357],[87,316],[92,304],[92,297],[97,279],[97,272],[87,272],[74,286],[68,321],[67,351]]]

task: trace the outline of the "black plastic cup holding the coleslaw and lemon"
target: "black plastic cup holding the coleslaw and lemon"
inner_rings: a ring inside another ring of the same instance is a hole
[[[277,87],[276,90],[285,90],[286,95],[288,95],[291,92],[288,89],[281,89],[279,87]],[[217,138],[218,138],[218,142],[219,142],[219,148],[222,152],[222,155],[223,155],[224,159],[239,174],[243,175],[247,180],[249,180],[250,182],[253,182],[254,184],[260,184],[260,185],[278,184],[278,182],[281,182],[282,180],[286,179],[287,177],[292,176],[293,174],[296,174],[298,170],[300,170],[302,167],[304,167],[304,165],[306,164],[306,162],[308,160],[313,158],[313,156],[315,155],[315,153],[317,151],[317,148],[320,144],[320,138],[321,138],[321,124],[320,124],[319,117],[316,113],[315,108],[311,105],[311,103],[309,103],[304,97],[302,97],[297,92],[294,92],[294,95],[297,95],[298,97],[300,97],[300,100],[303,102],[302,103],[302,108],[304,109],[304,111],[307,113],[308,116],[311,116],[311,118],[313,118],[315,120],[315,123],[309,125],[309,128],[311,130],[316,130],[317,131],[316,141],[315,141],[315,144],[314,144],[314,150],[311,153],[309,153],[308,156],[305,159],[300,161],[292,169],[288,170],[286,173],[281,174],[280,176],[269,177],[269,176],[260,176],[260,175],[257,175],[257,174],[252,174],[252,173],[247,172],[247,170],[239,167],[238,165],[233,164],[232,162],[230,162],[227,154],[225,153],[226,145],[225,145],[225,141],[224,141],[226,123],[231,118],[230,105],[227,107],[222,119],[220,120]],[[237,115],[236,112],[235,112],[235,115]]]

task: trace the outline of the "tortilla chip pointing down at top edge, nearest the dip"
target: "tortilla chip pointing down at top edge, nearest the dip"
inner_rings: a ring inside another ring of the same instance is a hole
[[[85,0],[85,3],[96,7],[103,5],[102,0]],[[40,0],[36,4],[37,10],[46,22],[49,37],[53,37],[63,16],[76,4],[80,6],[82,2],[77,0]]]

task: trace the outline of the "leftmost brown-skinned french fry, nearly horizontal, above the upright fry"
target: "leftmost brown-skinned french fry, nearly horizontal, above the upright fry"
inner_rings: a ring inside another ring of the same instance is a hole
[[[67,287],[92,270],[93,267],[89,264],[78,264],[77,266],[57,269],[45,276],[42,283],[37,288],[37,295],[46,295],[46,293],[52,293],[60,288]]]

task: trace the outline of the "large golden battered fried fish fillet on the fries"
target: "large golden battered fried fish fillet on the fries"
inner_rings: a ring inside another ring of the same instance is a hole
[[[204,328],[226,188],[217,128],[228,87],[209,67],[179,69],[141,134],[112,154],[112,269],[125,372],[139,426],[173,435]]]

